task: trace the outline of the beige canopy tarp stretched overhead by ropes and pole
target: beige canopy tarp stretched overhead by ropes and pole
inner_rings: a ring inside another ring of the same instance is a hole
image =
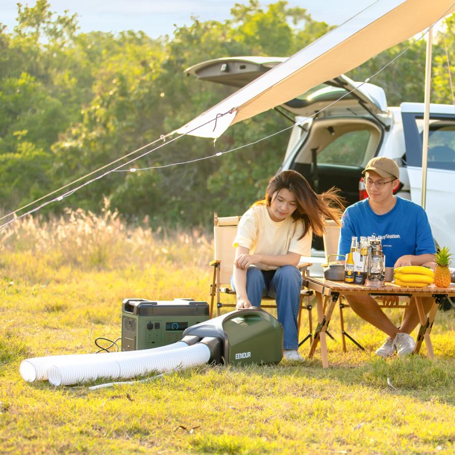
[[[377,0],[174,132],[218,138],[231,124],[350,71],[453,11],[453,0]]]

